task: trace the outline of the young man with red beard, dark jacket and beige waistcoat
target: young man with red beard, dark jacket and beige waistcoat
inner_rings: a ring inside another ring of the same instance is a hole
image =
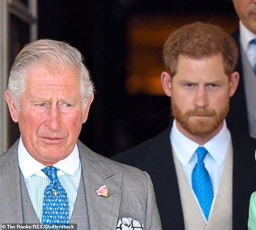
[[[225,121],[239,82],[237,56],[233,38],[216,25],[174,31],[161,74],[172,126],[114,157],[150,174],[164,230],[247,228],[256,144],[231,134]]]

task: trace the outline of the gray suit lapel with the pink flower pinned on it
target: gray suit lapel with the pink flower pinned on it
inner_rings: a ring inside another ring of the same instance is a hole
[[[121,202],[123,174],[113,171],[102,157],[78,142],[86,191],[89,226],[91,229],[116,229]],[[106,184],[109,199],[98,196],[96,190]]]

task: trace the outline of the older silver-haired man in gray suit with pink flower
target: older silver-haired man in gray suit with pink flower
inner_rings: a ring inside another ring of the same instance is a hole
[[[0,156],[0,223],[162,229],[149,175],[78,140],[93,92],[65,42],[38,40],[17,55],[6,101],[21,137]]]

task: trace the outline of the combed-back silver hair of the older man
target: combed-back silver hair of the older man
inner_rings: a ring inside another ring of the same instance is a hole
[[[80,51],[67,42],[41,39],[25,45],[11,67],[7,86],[17,108],[20,109],[20,99],[25,92],[27,69],[35,65],[43,65],[51,71],[55,70],[55,66],[61,66],[63,69],[78,69],[83,110],[85,110],[90,95],[94,92],[94,85],[83,61]]]

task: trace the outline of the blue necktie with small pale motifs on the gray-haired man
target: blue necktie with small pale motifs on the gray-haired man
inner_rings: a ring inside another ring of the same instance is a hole
[[[69,203],[67,193],[61,186],[57,171],[59,169],[48,166],[42,169],[50,179],[50,184],[44,191],[42,224],[68,224]]]

